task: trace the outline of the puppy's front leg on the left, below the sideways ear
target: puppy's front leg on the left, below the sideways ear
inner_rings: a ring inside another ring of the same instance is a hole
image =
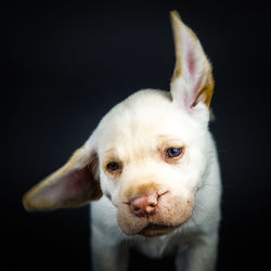
[[[94,223],[91,224],[92,271],[126,271],[128,256],[128,244],[112,243]]]

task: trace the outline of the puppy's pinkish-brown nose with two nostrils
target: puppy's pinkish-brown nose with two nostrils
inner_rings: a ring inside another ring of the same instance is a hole
[[[131,201],[130,209],[137,217],[149,217],[155,214],[158,203],[157,194],[143,195]]]

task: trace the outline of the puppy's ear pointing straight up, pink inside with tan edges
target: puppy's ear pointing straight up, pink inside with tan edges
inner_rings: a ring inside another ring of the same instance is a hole
[[[171,79],[172,100],[192,109],[203,102],[209,107],[214,91],[211,65],[207,60],[196,35],[185,26],[178,12],[170,13],[176,67]]]

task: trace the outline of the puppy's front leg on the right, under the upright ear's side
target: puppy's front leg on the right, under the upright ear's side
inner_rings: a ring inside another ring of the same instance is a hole
[[[177,271],[214,271],[217,258],[218,235],[205,236],[188,250],[177,255]]]

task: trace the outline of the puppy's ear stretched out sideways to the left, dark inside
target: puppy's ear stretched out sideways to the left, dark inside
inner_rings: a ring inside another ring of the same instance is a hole
[[[102,192],[96,170],[98,157],[90,140],[62,168],[25,194],[26,210],[77,207],[99,199]]]

